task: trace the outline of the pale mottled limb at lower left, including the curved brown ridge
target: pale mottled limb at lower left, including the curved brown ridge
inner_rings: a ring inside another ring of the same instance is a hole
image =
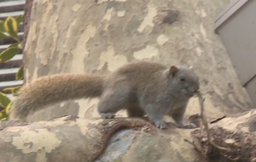
[[[154,134],[141,119],[78,119],[73,116],[33,123],[1,122],[1,162],[93,162],[120,129]]]

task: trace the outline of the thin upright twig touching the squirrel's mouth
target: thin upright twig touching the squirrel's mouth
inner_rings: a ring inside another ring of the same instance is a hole
[[[202,122],[204,124],[205,130],[206,130],[206,134],[209,140],[209,143],[214,146],[216,149],[218,150],[222,150],[222,151],[228,151],[228,148],[222,147],[222,146],[218,146],[217,144],[215,144],[212,140],[211,140],[211,136],[210,136],[210,132],[209,132],[209,128],[208,128],[208,123],[206,121],[206,117],[205,117],[205,112],[204,112],[204,100],[202,97],[202,94],[200,93],[200,91],[197,92],[198,95],[198,100],[199,100],[199,106],[200,106],[200,111],[201,111],[201,119]]]

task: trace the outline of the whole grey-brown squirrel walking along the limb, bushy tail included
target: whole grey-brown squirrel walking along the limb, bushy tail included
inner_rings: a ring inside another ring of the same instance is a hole
[[[184,113],[188,101],[199,90],[199,77],[192,68],[167,67],[152,61],[134,61],[109,75],[55,74],[39,77],[24,85],[10,108],[11,120],[24,120],[27,115],[47,105],[72,99],[99,97],[97,110],[104,119],[126,109],[129,117],[148,115],[160,129],[166,129],[164,115],[174,119],[180,128],[186,124]]]

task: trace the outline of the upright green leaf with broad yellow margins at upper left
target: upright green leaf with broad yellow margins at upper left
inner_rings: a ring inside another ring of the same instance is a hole
[[[4,22],[4,29],[10,34],[16,41],[20,41],[18,38],[18,25],[13,17],[8,17]]]

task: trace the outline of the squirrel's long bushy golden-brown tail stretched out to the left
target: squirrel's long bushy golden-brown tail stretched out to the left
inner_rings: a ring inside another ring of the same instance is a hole
[[[25,119],[47,105],[70,99],[100,97],[104,77],[91,74],[58,74],[40,77],[23,86],[13,101],[11,120]]]

